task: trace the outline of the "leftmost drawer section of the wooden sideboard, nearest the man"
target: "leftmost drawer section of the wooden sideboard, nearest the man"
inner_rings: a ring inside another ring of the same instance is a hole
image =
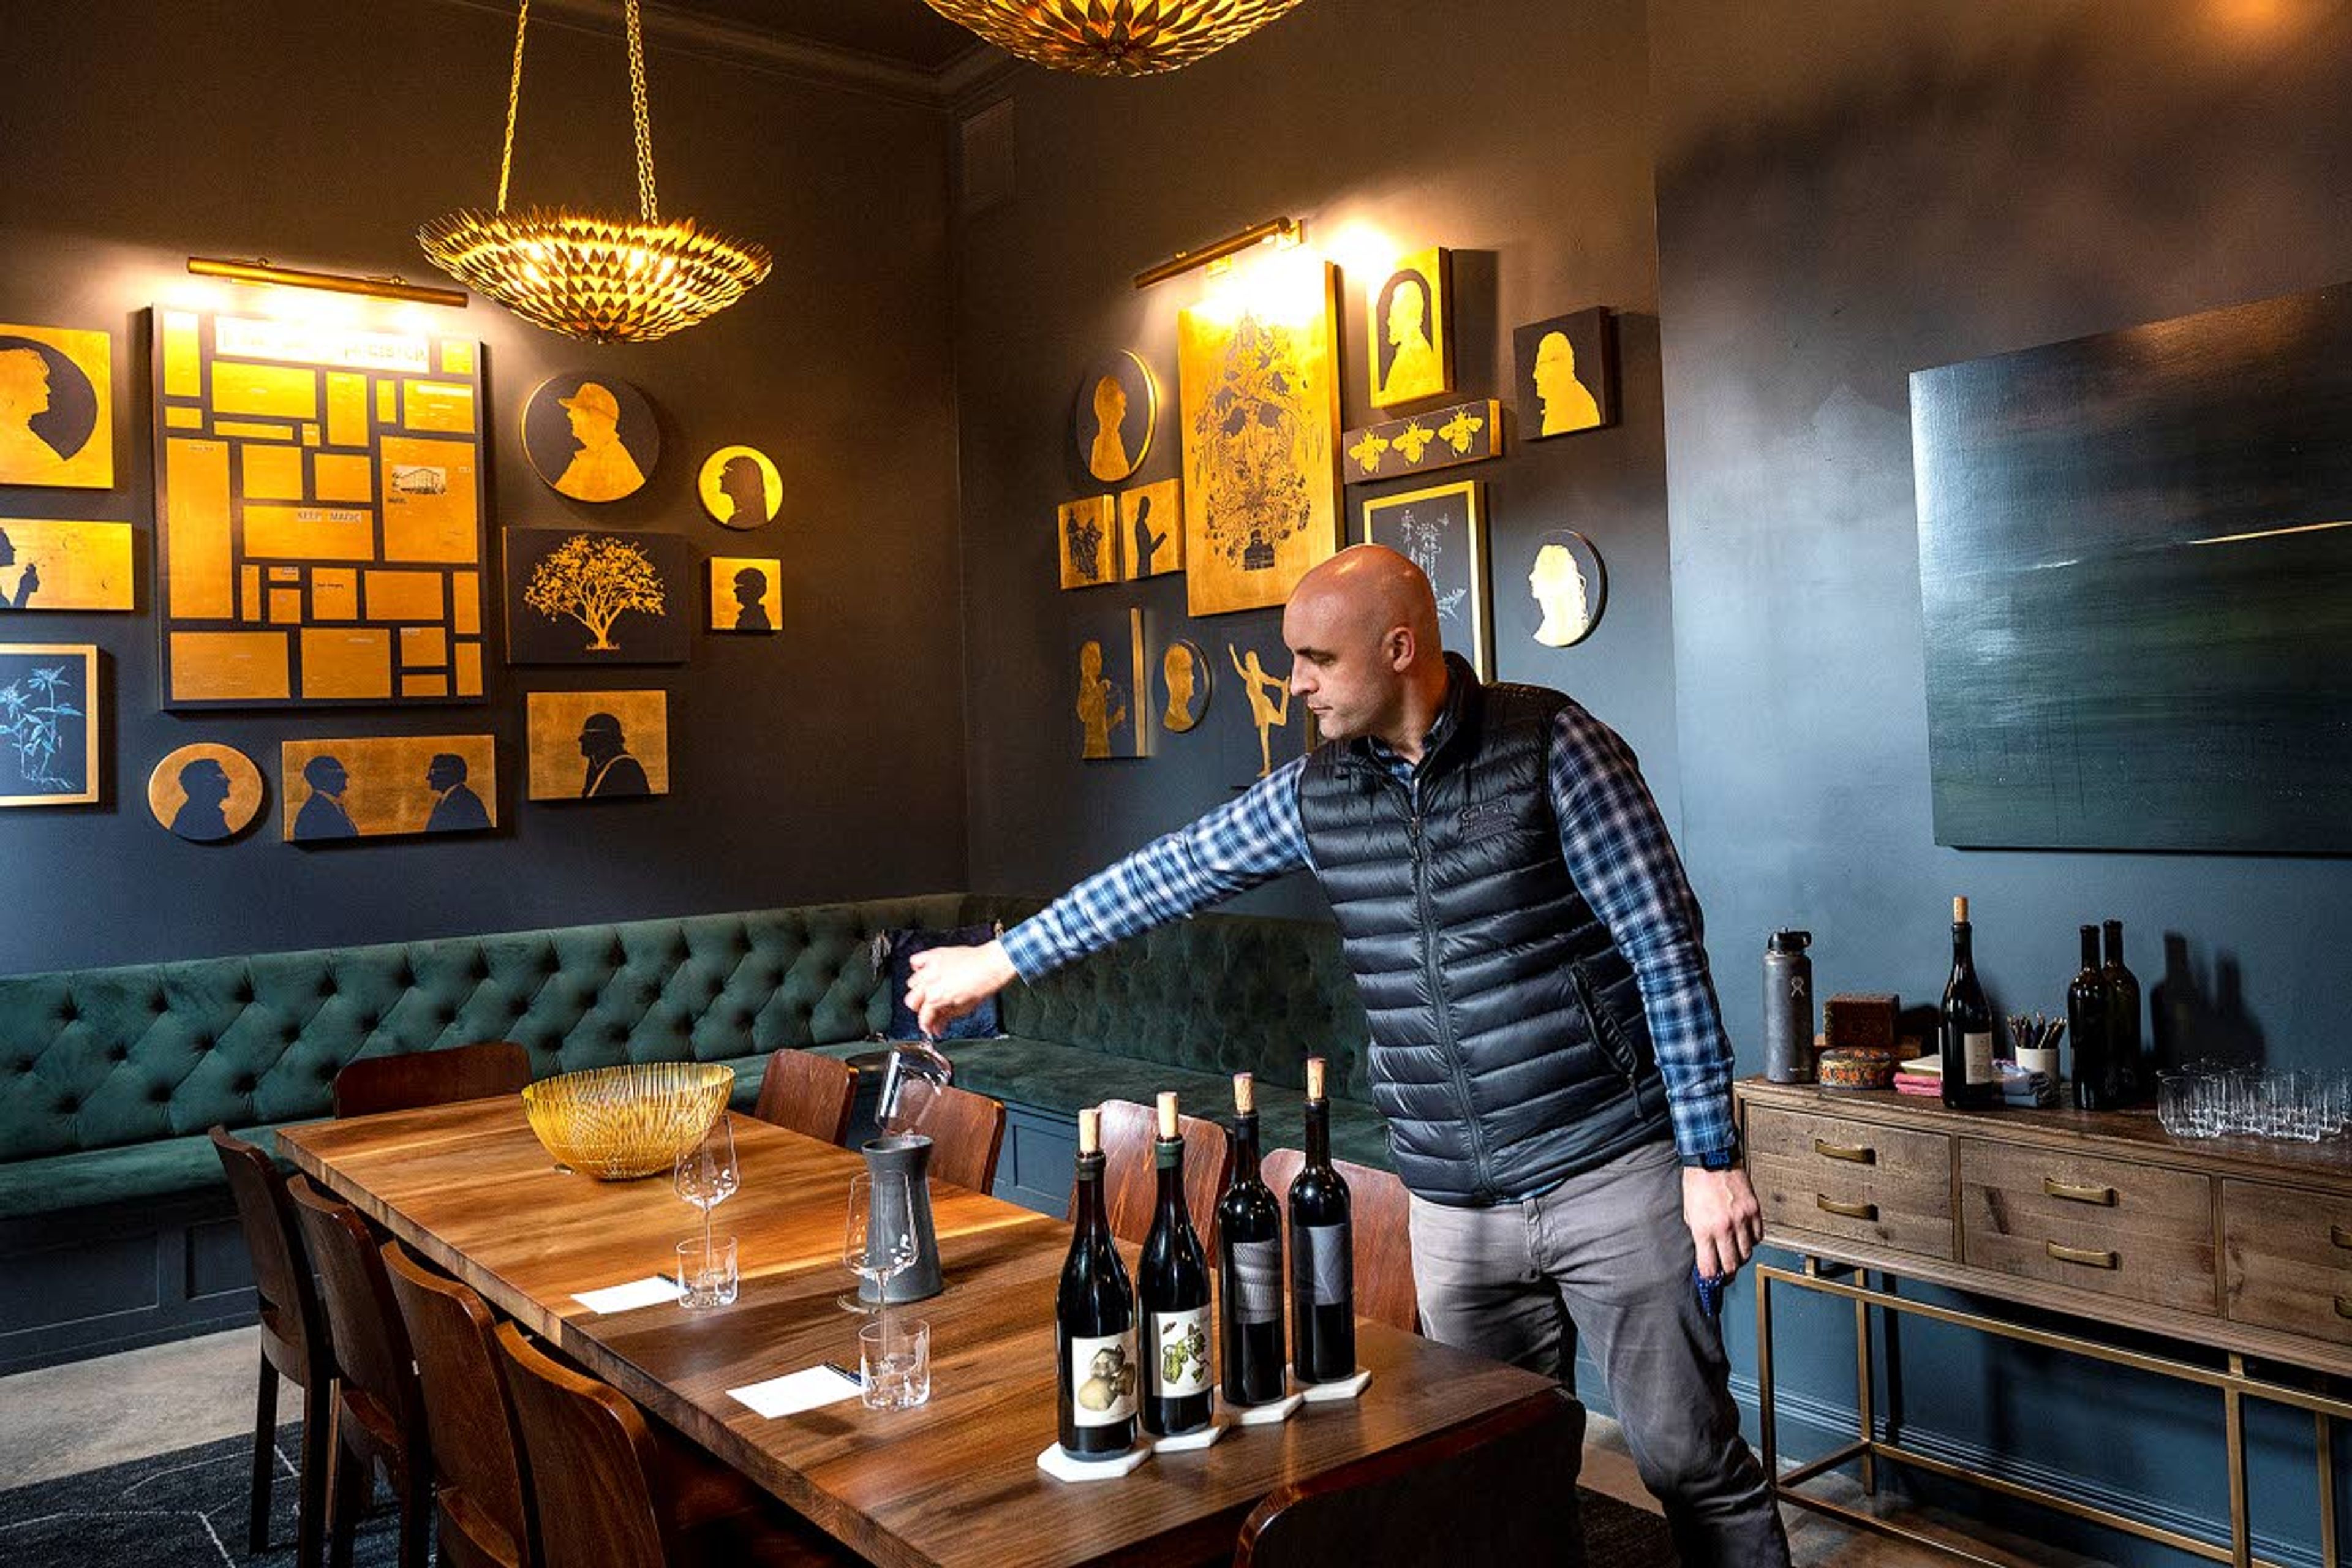
[[[1952,1140],[1846,1117],[1748,1110],[1764,1225],[1952,1258]]]

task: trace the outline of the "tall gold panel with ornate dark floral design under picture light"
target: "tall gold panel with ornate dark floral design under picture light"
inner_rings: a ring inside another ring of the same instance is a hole
[[[1334,268],[1270,256],[1176,320],[1185,607],[1291,597],[1338,550]]]

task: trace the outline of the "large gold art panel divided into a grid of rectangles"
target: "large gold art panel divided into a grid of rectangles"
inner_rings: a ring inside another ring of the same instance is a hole
[[[155,308],[165,708],[482,698],[477,364],[466,339]]]

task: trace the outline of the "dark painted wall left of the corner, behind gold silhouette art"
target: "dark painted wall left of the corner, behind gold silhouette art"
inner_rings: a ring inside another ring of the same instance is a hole
[[[188,254],[428,275],[416,223],[496,190],[513,19],[421,0],[0,0],[0,320],[108,327],[120,433],[113,494],[9,489],[0,512],[127,517],[146,555],[141,310],[303,308],[191,280]],[[642,348],[572,343],[482,303],[430,315],[489,346],[494,529],[612,522],[687,534],[701,555],[781,557],[783,632],[696,632],[691,663],[621,672],[494,661],[480,708],[162,715],[151,567],[136,616],[14,616],[9,637],[106,649],[113,719],[103,806],[0,813],[0,971],[962,884],[946,120],[659,40],[649,73],[663,212],[764,240],[769,282]],[[517,202],[633,205],[626,87],[616,35],[534,19]],[[522,400],[567,367],[635,381],[661,411],[663,458],[637,496],[579,505],[522,461]],[[783,517],[757,534],[694,498],[703,454],[727,442],[783,468]],[[522,691],[604,684],[670,691],[675,792],[522,804]],[[146,811],[148,769],[188,741],[238,743],[275,778],[280,738],[456,726],[501,736],[494,837],[308,851],[266,818],[233,846],[195,846]]]

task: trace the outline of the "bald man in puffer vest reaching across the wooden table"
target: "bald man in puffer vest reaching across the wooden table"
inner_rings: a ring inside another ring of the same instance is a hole
[[[1312,755],[995,943],[917,954],[910,1006],[934,1032],[1014,978],[1315,872],[1411,1192],[1423,1331],[1562,1380],[1583,1335],[1682,1561],[1788,1563],[1693,1291],[1693,1267],[1729,1279],[1762,1237],[1731,1046],[1632,752],[1559,691],[1479,684],[1439,649],[1430,581],[1381,545],[1310,571],[1282,639]]]

